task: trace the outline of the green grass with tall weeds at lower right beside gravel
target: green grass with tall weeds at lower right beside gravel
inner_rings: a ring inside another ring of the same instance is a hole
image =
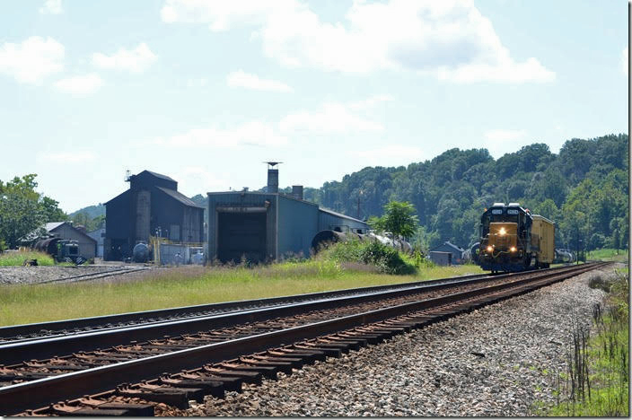
[[[547,416],[629,416],[629,276],[621,270],[614,281],[592,279],[591,284],[609,292],[606,310],[593,310],[597,334],[580,352],[585,356],[588,375],[582,383],[560,375],[557,389],[565,399],[549,410]],[[576,350],[576,348],[575,348]],[[578,389],[584,388],[580,393]],[[575,389],[575,391],[574,391]],[[590,389],[588,393],[586,389]]]

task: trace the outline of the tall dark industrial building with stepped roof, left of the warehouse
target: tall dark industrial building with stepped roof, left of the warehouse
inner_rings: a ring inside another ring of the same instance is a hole
[[[129,189],[105,203],[103,259],[131,258],[137,243],[150,236],[202,245],[204,207],[178,192],[178,182],[160,173],[127,175]]]

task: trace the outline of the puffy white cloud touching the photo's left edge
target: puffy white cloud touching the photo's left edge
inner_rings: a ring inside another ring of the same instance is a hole
[[[64,68],[64,46],[55,39],[31,37],[21,44],[0,45],[0,73],[20,83],[41,83]]]

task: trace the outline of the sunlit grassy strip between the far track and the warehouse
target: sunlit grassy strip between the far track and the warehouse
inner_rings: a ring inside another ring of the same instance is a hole
[[[128,275],[126,280],[94,283],[2,285],[0,325],[398,284],[481,272],[478,266],[422,267],[416,275],[393,276],[375,273],[369,266],[316,259],[255,268],[174,267]]]

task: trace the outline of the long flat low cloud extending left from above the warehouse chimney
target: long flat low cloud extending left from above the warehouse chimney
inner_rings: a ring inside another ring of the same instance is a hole
[[[276,133],[274,127],[261,121],[250,121],[234,128],[193,128],[186,133],[155,138],[151,144],[177,147],[221,147],[236,148],[243,146],[276,147],[286,144],[284,136]]]

